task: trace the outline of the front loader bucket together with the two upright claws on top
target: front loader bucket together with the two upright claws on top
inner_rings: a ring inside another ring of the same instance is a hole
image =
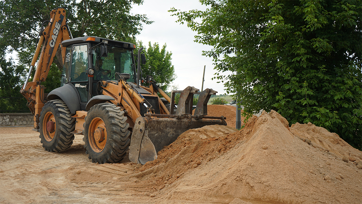
[[[189,90],[187,90],[189,88]],[[157,152],[174,142],[183,132],[206,125],[226,125],[224,117],[208,117],[207,101],[216,91],[206,89],[199,93],[199,101],[194,115],[189,97],[198,89],[188,87],[182,91],[176,115],[146,113],[136,119],[130,144],[129,159],[134,163],[145,164],[157,159]],[[200,101],[201,100],[201,101]],[[186,113],[185,113],[186,112]]]

